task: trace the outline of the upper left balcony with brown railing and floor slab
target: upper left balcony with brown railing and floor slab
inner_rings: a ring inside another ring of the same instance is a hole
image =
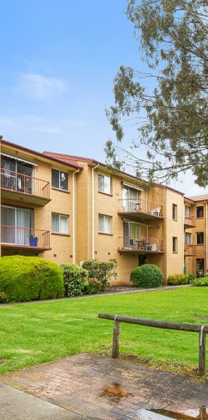
[[[50,182],[1,168],[1,198],[45,206],[51,200]]]

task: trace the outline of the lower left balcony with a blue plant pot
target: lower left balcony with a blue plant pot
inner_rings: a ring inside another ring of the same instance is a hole
[[[37,252],[51,250],[50,232],[29,227],[1,225],[1,247],[27,248]]]

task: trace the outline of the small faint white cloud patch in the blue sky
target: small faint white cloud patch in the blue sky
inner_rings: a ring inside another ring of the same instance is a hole
[[[67,90],[67,82],[39,73],[23,73],[17,80],[17,91],[28,98],[45,99]]]

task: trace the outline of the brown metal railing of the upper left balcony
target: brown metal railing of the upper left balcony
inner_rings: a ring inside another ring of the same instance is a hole
[[[50,198],[50,182],[1,168],[1,188]]]

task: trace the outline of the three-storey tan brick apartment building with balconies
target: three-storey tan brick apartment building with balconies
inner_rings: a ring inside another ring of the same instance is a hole
[[[39,153],[2,137],[0,193],[1,256],[35,255],[58,264],[114,258],[114,284],[128,284],[131,270],[144,263],[158,265],[165,280],[184,265],[196,272],[202,260],[207,270],[205,198],[184,198],[158,184],[148,188],[94,159]]]

